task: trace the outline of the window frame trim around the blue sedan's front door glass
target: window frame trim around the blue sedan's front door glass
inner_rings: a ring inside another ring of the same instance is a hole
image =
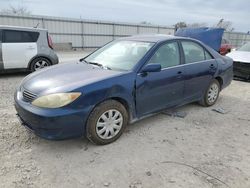
[[[179,41],[178,40],[168,40],[168,41],[164,41],[162,42],[161,44],[159,44],[157,46],[157,48],[152,52],[152,54],[150,55],[150,57],[147,59],[147,61],[145,62],[145,64],[141,67],[141,69],[146,66],[148,64],[148,62],[151,60],[151,58],[155,55],[155,53],[159,50],[159,48],[161,48],[163,45],[166,45],[166,44],[169,44],[169,43],[176,43],[177,46],[178,46],[178,52],[179,52],[179,64],[178,65],[174,65],[174,66],[171,66],[171,67],[165,67],[165,68],[161,68],[161,71],[162,70],[165,70],[165,69],[169,69],[169,68],[173,68],[173,67],[177,67],[177,66],[180,66],[182,65],[182,52],[181,52],[181,47],[180,47],[180,44],[179,44]]]

